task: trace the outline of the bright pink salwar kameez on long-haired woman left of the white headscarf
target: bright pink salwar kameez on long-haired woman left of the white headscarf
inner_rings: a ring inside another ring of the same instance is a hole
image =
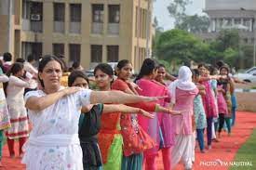
[[[147,97],[155,97],[155,96],[167,96],[168,95],[168,89],[164,85],[160,85],[159,83],[155,82],[154,80],[147,80],[141,78],[139,81],[137,81],[137,85],[142,90],[138,90],[139,95],[141,96],[147,96]],[[158,101],[158,104],[164,106],[165,99],[160,99]],[[159,113],[159,115],[155,116],[154,119],[148,119],[141,115],[138,115],[139,124],[141,124],[141,127],[152,137],[155,142],[156,146],[155,148],[151,150],[146,150],[143,152],[144,157],[144,164],[145,169],[147,170],[156,170],[156,156],[158,154],[158,150],[160,147],[160,136],[162,135],[162,141],[163,141],[163,147],[165,148],[163,151],[163,157],[165,158],[164,166],[166,169],[170,167],[170,146],[172,144],[173,138],[172,138],[172,132],[169,131],[170,129],[170,115]],[[161,133],[161,134],[160,134]]]

